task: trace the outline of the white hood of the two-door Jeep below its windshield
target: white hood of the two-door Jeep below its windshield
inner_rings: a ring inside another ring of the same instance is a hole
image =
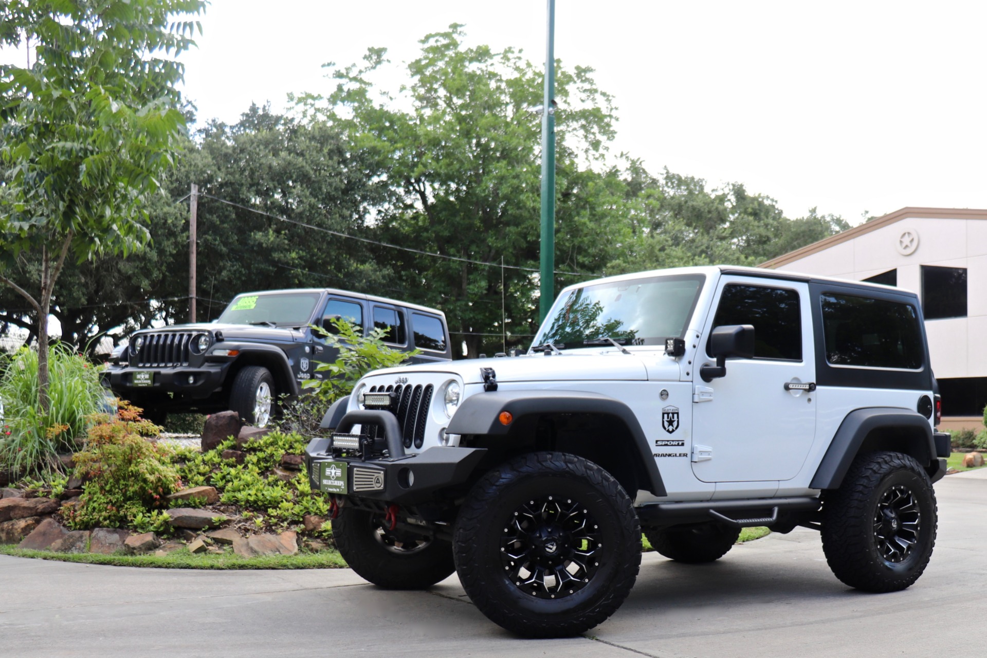
[[[493,368],[498,384],[584,380],[644,381],[648,373],[645,362],[653,358],[652,351],[623,354],[611,348],[580,349],[552,356],[537,354],[399,366],[375,370],[370,376],[442,372],[459,375],[464,384],[480,384],[483,382],[481,368]]]

